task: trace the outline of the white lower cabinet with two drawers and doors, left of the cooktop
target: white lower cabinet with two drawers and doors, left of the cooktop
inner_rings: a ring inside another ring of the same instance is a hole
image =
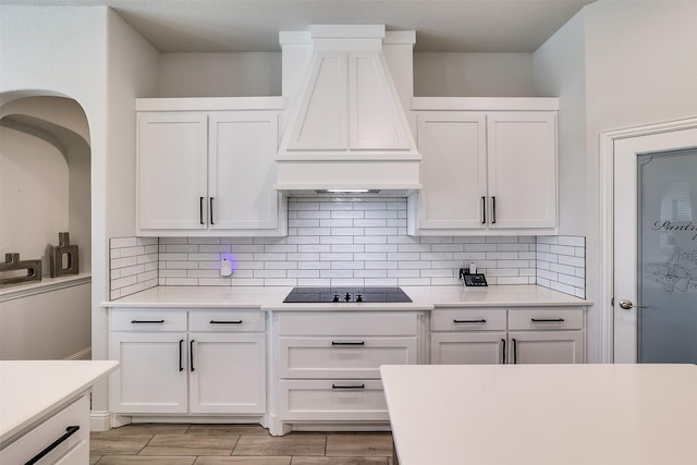
[[[117,414],[266,413],[266,317],[258,310],[114,309]]]

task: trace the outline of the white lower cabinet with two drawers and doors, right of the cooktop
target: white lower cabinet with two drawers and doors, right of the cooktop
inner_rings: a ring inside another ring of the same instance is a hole
[[[431,364],[578,364],[584,334],[583,308],[437,308]]]

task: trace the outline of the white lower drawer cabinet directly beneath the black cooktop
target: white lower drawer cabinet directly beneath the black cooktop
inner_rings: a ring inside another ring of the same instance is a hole
[[[388,421],[380,365],[416,364],[416,313],[279,313],[281,423]]]

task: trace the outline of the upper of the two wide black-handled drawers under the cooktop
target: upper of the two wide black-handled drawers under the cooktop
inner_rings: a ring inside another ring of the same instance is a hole
[[[416,364],[413,338],[279,338],[280,378],[380,378],[380,365]]]

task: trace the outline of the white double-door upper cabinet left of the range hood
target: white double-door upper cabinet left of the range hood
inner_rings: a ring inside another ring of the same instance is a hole
[[[137,234],[284,235],[278,112],[188,111],[176,100],[139,100]]]

